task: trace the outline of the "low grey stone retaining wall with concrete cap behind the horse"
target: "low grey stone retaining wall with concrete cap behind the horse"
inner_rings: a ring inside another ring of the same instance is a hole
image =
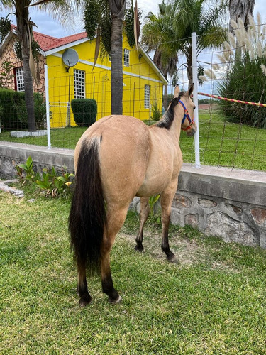
[[[74,170],[73,151],[0,142],[0,178],[12,178],[29,155],[35,169],[65,165]],[[131,208],[138,209],[135,197]],[[172,203],[171,222],[206,235],[266,248],[266,173],[184,164]]]

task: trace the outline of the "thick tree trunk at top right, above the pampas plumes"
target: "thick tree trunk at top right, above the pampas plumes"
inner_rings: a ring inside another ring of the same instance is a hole
[[[235,22],[241,18],[245,28],[247,28],[249,21],[248,16],[253,16],[255,0],[229,0],[230,19]],[[233,33],[233,27],[229,24],[229,31]]]

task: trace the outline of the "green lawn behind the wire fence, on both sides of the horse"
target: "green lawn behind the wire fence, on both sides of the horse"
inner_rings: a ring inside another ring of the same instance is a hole
[[[153,121],[145,121],[153,124]],[[77,144],[84,127],[51,129],[51,145],[71,148]],[[47,145],[47,137],[11,138],[9,132],[0,133],[0,141]],[[266,170],[266,131],[250,126],[225,122],[212,111],[199,111],[199,144],[201,164],[250,170]],[[194,139],[182,131],[180,146],[184,162],[194,163]]]

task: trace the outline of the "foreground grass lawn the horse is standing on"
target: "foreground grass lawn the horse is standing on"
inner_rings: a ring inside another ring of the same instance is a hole
[[[32,198],[35,200],[31,200]],[[266,251],[171,226],[179,264],[149,220],[133,250],[128,213],[111,268],[123,297],[110,305],[98,276],[81,308],[67,233],[70,202],[0,192],[0,354],[266,354]]]

